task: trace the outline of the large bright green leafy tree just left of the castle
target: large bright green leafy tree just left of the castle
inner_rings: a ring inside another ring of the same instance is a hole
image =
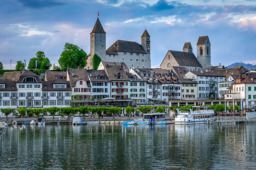
[[[81,51],[79,46],[66,42],[63,50],[61,57],[58,59],[62,70],[84,68],[87,65],[87,54]]]

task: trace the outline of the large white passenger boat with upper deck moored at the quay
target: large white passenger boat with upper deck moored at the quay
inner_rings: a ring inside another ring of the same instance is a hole
[[[193,110],[196,109],[196,111]],[[210,110],[209,106],[193,106],[189,111],[180,111],[177,109],[178,115],[175,117],[175,125],[201,124],[207,123],[214,119],[214,110]]]

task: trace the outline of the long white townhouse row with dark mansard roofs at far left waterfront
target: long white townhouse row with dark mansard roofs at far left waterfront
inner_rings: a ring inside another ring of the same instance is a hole
[[[1,108],[68,107],[70,104],[70,83],[63,79],[42,81],[31,71],[15,71],[5,73],[0,80]]]

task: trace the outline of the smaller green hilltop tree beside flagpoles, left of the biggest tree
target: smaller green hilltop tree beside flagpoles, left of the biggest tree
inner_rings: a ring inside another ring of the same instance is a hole
[[[52,66],[52,64],[50,63],[50,60],[45,57],[45,54],[43,51],[38,51],[35,54],[36,57],[33,57],[29,60],[29,65],[28,65],[28,69],[29,70],[34,70],[36,68],[38,69],[42,69],[42,70],[49,70]],[[37,67],[35,65],[37,61]]]

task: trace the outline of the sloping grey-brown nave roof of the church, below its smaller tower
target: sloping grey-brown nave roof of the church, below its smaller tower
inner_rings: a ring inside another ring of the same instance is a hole
[[[179,65],[202,67],[193,53],[169,50]]]

